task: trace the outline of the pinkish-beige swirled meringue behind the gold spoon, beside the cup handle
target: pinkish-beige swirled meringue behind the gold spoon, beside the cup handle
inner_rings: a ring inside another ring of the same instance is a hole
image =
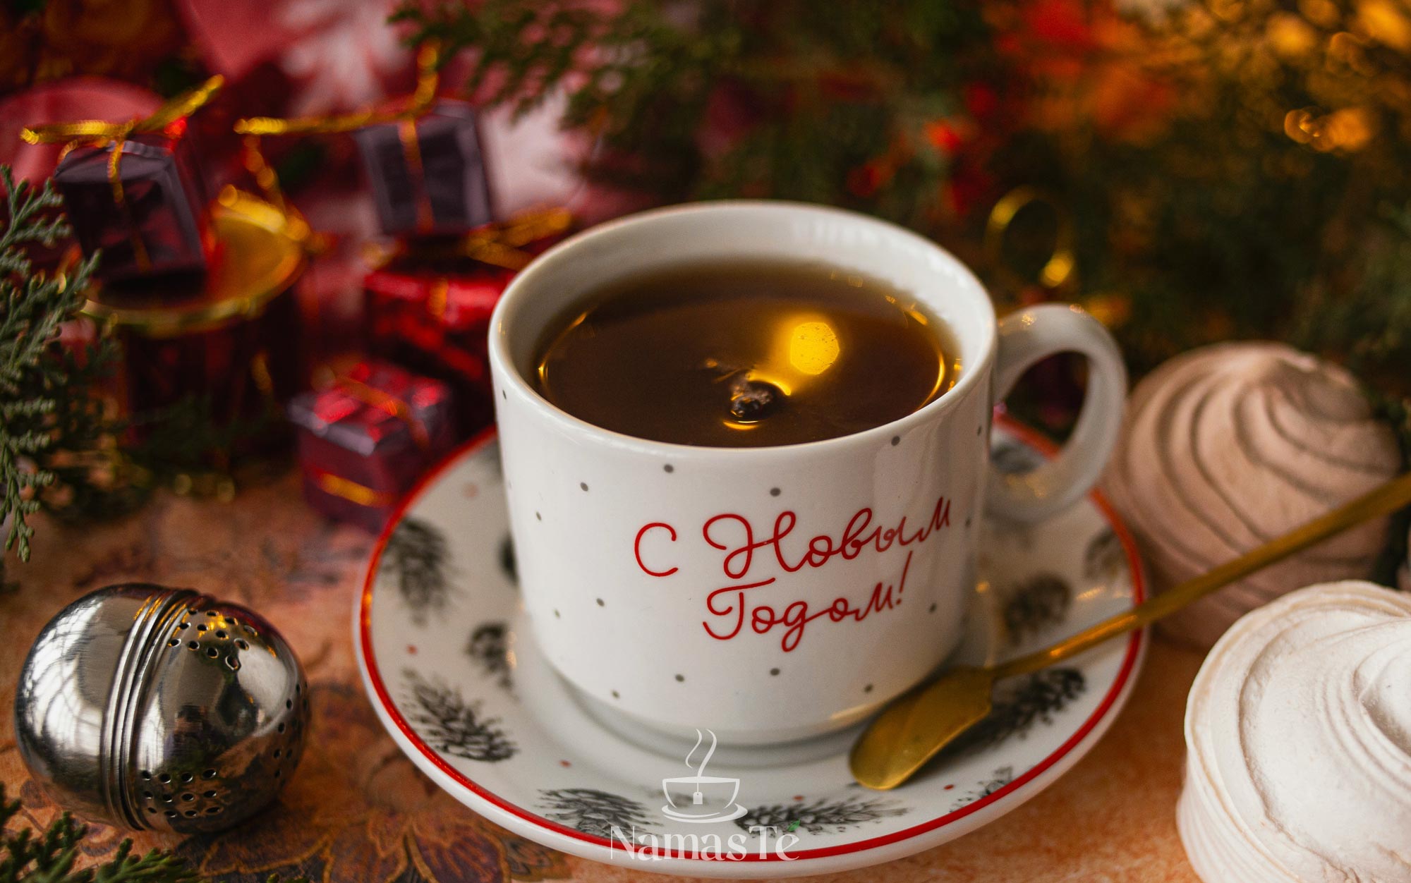
[[[1273,343],[1204,347],[1133,391],[1105,487],[1157,591],[1211,570],[1393,477],[1401,454],[1342,368]],[[1160,628],[1209,646],[1291,585],[1370,576],[1369,522],[1211,595]]]

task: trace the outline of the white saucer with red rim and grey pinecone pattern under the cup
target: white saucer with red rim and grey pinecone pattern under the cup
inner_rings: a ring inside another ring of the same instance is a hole
[[[1000,468],[1043,456],[1041,442],[1009,425],[995,444]],[[958,659],[1017,654],[1143,598],[1132,542],[1096,495],[1043,525],[986,523],[982,543],[983,581]],[[511,831],[600,862],[706,877],[876,865],[1005,815],[1102,736],[1146,647],[1137,633],[1002,684],[971,743],[895,791],[852,781],[845,733],[721,746],[700,781],[738,779],[738,797],[696,784],[667,801],[663,780],[701,774],[684,763],[690,745],[597,717],[539,654],[518,608],[498,451],[485,434],[408,497],[374,549],[354,645],[382,724],[436,784]]]

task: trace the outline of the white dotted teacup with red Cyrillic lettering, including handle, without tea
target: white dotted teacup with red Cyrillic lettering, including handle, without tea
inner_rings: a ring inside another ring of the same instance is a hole
[[[738,449],[624,436],[535,391],[546,326],[590,291],[739,258],[823,262],[914,293],[950,326],[959,379],[875,429]],[[1055,460],[1000,475],[993,405],[1060,351],[1091,363],[1077,429]],[[545,656],[594,707],[745,745],[844,728],[933,671],[961,636],[982,508],[1036,520],[1086,492],[1126,388],[1116,344],[1078,307],[996,323],[981,284],[934,243],[783,202],[646,212],[564,241],[505,291],[490,363],[521,591]]]

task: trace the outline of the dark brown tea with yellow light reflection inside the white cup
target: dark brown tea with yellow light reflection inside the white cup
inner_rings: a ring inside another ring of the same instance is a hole
[[[903,418],[959,374],[950,330],[885,282],[821,264],[676,265],[590,291],[549,324],[540,395],[628,436],[800,444]]]

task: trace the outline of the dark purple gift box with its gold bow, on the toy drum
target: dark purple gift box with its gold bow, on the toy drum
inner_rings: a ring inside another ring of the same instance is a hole
[[[62,142],[54,172],[85,254],[103,251],[110,279],[206,267],[206,188],[185,138],[186,117],[224,80],[213,76],[126,123],[48,123],[20,133],[30,144]]]

